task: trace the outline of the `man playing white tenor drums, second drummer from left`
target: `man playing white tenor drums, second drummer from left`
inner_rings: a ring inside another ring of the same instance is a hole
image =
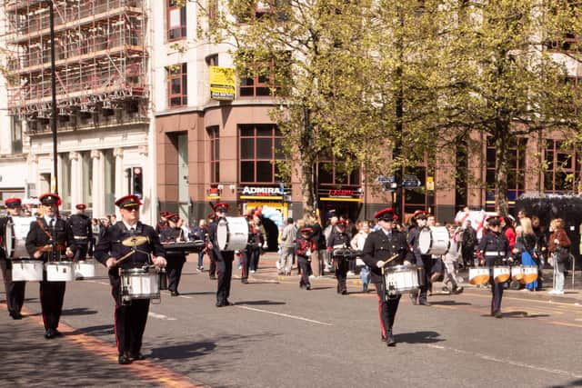
[[[43,206],[42,217],[30,224],[26,235],[26,251],[33,259],[44,262],[58,262],[62,256],[70,260],[76,250],[75,239],[71,228],[58,214],[61,197],[55,193],[46,193],[38,197]],[[60,335],[58,322],[63,311],[65,299],[65,282],[40,282],[40,304],[45,323],[45,338],[51,339]]]

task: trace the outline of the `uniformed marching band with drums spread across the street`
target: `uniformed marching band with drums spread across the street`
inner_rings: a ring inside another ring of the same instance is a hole
[[[143,224],[139,220],[140,198],[130,194],[115,201],[122,218],[106,228],[92,252],[92,225],[85,215],[85,204],[77,204],[77,214],[65,221],[58,213],[61,204],[58,194],[42,194],[39,200],[42,216],[22,217],[20,199],[8,198],[5,200],[8,214],[0,218],[0,267],[8,313],[13,319],[22,318],[25,283],[38,281],[45,338],[60,335],[57,328],[65,284],[75,277],[94,276],[95,266],[87,261],[87,254],[92,255],[108,270],[115,303],[115,339],[120,364],[144,358],[141,347],[150,302],[159,300],[160,290],[164,289],[168,289],[172,296],[179,295],[178,284],[186,254],[207,253],[216,260],[216,307],[224,307],[232,304],[228,297],[235,252],[240,252],[243,257],[241,281],[247,283],[249,270],[257,260],[253,257],[255,251],[265,240],[256,220],[227,216],[230,206],[219,203],[212,205],[214,213],[209,216],[212,222],[204,238],[188,241],[187,233],[178,224],[178,214],[163,212],[156,229]],[[256,217],[256,214],[251,215]],[[371,283],[376,284],[381,339],[388,347],[396,346],[393,329],[402,294],[409,293],[413,304],[430,305],[426,296],[431,282],[439,271],[443,271],[442,268],[436,269],[435,260],[446,255],[451,246],[458,251],[456,257],[460,257],[460,247],[457,247],[459,230],[428,224],[428,215],[424,211],[413,214],[414,224],[406,236],[396,228],[394,209],[388,207],[378,211],[375,214],[376,230],[367,234],[361,251],[352,249],[352,236],[346,232],[342,220],[336,222],[327,239],[327,250],[335,266],[337,293],[347,294],[346,274],[350,261],[358,258],[361,265],[366,264],[371,269]],[[477,264],[480,266],[469,270],[469,282],[489,284],[492,293],[490,313],[500,318],[503,290],[508,279],[535,280],[537,271],[526,274],[524,268],[513,263],[510,244],[500,231],[497,216],[488,218],[487,224],[490,232],[484,234],[477,247]],[[306,290],[311,289],[310,277],[313,275],[311,254],[317,252],[313,234],[311,226],[300,228],[292,248],[301,274],[299,285]],[[452,243],[451,238],[455,239]],[[82,264],[88,265],[87,273]],[[454,266],[446,264],[453,293],[462,292],[462,287],[457,285]],[[213,275],[211,271],[211,278]]]

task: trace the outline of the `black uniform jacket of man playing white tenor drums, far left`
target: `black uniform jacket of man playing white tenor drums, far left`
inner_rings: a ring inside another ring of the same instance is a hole
[[[44,217],[36,218],[36,221],[30,224],[30,230],[26,234],[26,252],[33,257],[35,252],[44,247],[47,244],[55,244],[56,257],[51,258],[50,252],[45,252],[42,255],[43,260],[61,260],[62,256],[65,255],[66,247],[71,248],[71,251],[75,253],[75,239],[73,238],[73,233],[71,228],[66,224],[65,220],[62,218],[56,218],[55,225],[53,228],[46,224]],[[66,259],[71,260],[71,259]]]

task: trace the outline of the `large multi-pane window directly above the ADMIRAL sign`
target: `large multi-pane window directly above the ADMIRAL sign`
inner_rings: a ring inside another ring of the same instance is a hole
[[[277,160],[285,158],[283,137],[275,124],[241,124],[239,128],[240,182],[275,184]]]

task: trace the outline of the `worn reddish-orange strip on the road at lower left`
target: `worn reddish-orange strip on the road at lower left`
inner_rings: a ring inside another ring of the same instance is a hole
[[[7,310],[5,303],[0,303],[0,308]],[[32,320],[40,326],[44,326],[43,318],[41,315],[35,315],[31,310],[23,308],[23,313],[25,313],[26,320]],[[199,382],[191,381],[187,376],[178,374],[171,369],[156,363],[154,361],[143,360],[135,363],[130,363],[129,365],[117,365],[117,349],[115,345],[105,343],[100,339],[88,335],[88,334],[76,334],[75,328],[69,326],[61,321],[58,326],[58,331],[64,333],[62,337],[65,341],[76,343],[86,352],[97,354],[103,357],[106,361],[115,364],[120,370],[126,373],[132,373],[145,382],[159,383],[162,386],[172,386],[179,388],[190,388],[190,387],[203,387],[204,385]],[[58,341],[58,340],[53,340]]]

